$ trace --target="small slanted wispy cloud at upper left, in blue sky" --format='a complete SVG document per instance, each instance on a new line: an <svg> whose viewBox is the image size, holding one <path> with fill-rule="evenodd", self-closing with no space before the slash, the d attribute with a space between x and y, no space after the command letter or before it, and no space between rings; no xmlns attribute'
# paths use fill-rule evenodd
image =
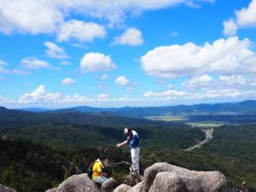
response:
<svg viewBox="0 0 256 192"><path fill-rule="evenodd" d="M57 44L54 44L52 42L44 42L44 45L48 48L46 50L46 54L49 57L55 58L55 59L66 59L68 58L67 53L65 50L61 47L59 47Z"/></svg>

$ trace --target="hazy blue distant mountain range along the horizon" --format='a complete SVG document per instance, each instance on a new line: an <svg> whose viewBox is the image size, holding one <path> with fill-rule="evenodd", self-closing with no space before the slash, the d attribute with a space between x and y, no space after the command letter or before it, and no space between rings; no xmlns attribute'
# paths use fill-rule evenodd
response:
<svg viewBox="0 0 256 192"><path fill-rule="evenodd" d="M243 113L255 114L256 101L247 100L244 102L225 102L215 104L196 104L196 105L177 105L165 107L125 107L125 108L91 108L87 106L79 106L74 108L63 109L44 109L44 108L23 108L21 110L30 112L45 112L53 113L113 113L120 116L130 117L148 117L164 114L183 114L183 113Z"/></svg>

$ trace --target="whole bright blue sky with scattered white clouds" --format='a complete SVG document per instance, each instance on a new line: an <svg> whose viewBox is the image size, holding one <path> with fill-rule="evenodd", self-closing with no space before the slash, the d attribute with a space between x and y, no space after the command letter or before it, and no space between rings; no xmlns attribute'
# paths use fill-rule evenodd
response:
<svg viewBox="0 0 256 192"><path fill-rule="evenodd" d="M256 99L256 0L0 0L0 106Z"/></svg>

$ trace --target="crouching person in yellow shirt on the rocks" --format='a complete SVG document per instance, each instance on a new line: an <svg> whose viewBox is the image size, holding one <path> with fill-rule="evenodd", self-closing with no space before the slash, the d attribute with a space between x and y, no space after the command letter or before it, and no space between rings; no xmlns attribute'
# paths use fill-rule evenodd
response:
<svg viewBox="0 0 256 192"><path fill-rule="evenodd" d="M100 184L108 181L108 177L107 177L108 174L105 172L102 172L103 167L107 165L108 165L107 157L101 157L95 161L92 167L92 176L91 176L92 181Z"/></svg>

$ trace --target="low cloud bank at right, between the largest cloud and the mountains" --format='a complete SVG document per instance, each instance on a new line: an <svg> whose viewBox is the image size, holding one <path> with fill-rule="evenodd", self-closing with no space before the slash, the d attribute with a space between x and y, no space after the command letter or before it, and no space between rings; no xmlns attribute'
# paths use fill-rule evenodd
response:
<svg viewBox="0 0 256 192"><path fill-rule="evenodd" d="M179 90L148 91L143 97L151 101L212 101L214 99L252 99L256 96L256 79L241 75L208 74L183 82Z"/></svg>

